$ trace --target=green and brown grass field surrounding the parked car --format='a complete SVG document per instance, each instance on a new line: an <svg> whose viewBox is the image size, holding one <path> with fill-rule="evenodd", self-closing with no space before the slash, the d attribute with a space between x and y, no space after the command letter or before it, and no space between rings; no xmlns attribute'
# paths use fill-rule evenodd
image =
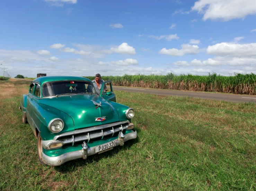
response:
<svg viewBox="0 0 256 191"><path fill-rule="evenodd" d="M40 165L21 123L29 81L0 82L0 190L256 190L256 105L115 91L135 110L138 139Z"/></svg>

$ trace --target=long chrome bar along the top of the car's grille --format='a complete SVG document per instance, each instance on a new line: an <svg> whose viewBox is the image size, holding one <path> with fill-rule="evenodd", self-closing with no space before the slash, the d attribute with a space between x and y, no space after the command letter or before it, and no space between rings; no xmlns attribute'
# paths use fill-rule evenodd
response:
<svg viewBox="0 0 256 191"><path fill-rule="evenodd" d="M109 123L109 124L105 124L105 125L98 125L98 126L94 126L94 127L87 127L87 128L83 128L83 129L77 129L77 130L74 130L74 131L65 132L65 133L61 133L59 135L56 135L53 139L57 140L60 137L64 137L64 136L67 136L67 135L87 133L87 132L90 132L90 131L106 129L106 128L113 127L113 126L116 126L116 125L121 125L121 124L124 124L124 123L130 124L130 121L128 121L128 120L127 121L120 121L120 122Z"/></svg>

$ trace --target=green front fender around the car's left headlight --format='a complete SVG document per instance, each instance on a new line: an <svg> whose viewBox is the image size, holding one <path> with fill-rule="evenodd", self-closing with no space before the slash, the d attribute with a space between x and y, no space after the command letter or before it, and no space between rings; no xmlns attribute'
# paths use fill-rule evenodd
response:
<svg viewBox="0 0 256 191"><path fill-rule="evenodd" d="M36 103L33 112L32 118L39 129L41 131L42 140L50 140L53 139L54 136L63 133L74 131L74 121L67 113L60 111L58 109L52 108L48 105ZM53 133L48 130L48 124L51 120L55 118L60 118L64 122L64 127L61 132Z"/></svg>

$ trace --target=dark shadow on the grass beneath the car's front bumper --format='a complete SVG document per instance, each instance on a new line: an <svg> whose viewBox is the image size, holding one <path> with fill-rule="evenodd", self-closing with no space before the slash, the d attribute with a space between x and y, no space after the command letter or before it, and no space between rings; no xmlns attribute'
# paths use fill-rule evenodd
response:
<svg viewBox="0 0 256 191"><path fill-rule="evenodd" d="M136 131L139 133L141 130L136 129ZM117 147L114 147L110 151L106 151L101 154L91 155L86 160L81 158L81 159L68 161L68 162L65 162L64 164L62 164L61 166L54 167L54 169L56 171L63 172L63 173L73 172L73 171L77 170L76 167L86 166L93 162L99 162L101 159L104 159L104 158L112 158L112 157L118 156L118 154L123 150L132 150L132 149L130 149L132 147L132 145L138 143L139 141L140 141L140 138L139 138L139 136L137 136L136 139L132 139L132 140L124 142L124 146L117 146Z"/></svg>

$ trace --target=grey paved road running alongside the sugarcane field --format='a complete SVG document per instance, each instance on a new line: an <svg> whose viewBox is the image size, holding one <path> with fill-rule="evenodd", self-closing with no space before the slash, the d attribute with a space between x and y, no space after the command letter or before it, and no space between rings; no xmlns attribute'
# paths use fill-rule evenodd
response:
<svg viewBox="0 0 256 191"><path fill-rule="evenodd" d="M163 89L146 89L135 87L120 87L113 86L114 91L127 91L136 93L152 93L160 96L189 96L202 99L214 99L231 102L254 102L256 103L256 96L249 95L236 95L227 93L208 93L208 92L191 92L191 91L178 91L178 90L163 90Z"/></svg>

